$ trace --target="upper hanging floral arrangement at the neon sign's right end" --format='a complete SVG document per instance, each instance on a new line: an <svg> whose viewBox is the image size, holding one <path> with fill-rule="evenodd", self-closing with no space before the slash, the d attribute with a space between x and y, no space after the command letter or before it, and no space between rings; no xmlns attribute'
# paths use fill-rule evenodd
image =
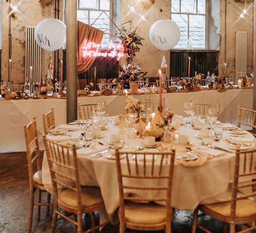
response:
<svg viewBox="0 0 256 233"><path fill-rule="evenodd" d="M116 33L116 36L120 39L120 42L116 43L121 45L121 52L124 54L127 64L133 61L136 52L140 52L139 46L143 46L141 41L144 40L144 38L137 34L136 30L137 28L134 31L127 32L127 30L122 27L120 33Z"/></svg>

